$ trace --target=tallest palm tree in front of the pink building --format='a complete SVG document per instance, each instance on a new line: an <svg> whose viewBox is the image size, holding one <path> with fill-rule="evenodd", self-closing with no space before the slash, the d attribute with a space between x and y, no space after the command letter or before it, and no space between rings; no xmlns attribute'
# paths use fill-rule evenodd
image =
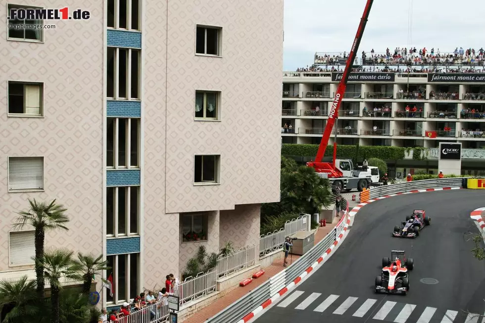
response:
<svg viewBox="0 0 485 323"><path fill-rule="evenodd" d="M30 224L35 229L35 259L40 260L44 256L44 241L46 232L55 229L68 230L64 225L69 222L69 218L64 214L67 209L61 204L56 204L55 199L47 204L29 199L30 209L28 212L17 212L19 215L14 229L21 229L26 224ZM37 276L37 294L40 298L44 297L44 268L42 262L36 261L35 272Z"/></svg>

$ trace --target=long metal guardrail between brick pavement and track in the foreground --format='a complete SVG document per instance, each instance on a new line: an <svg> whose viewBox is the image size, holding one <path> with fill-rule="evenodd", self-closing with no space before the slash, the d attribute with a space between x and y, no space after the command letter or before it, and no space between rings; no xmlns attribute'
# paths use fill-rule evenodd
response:
<svg viewBox="0 0 485 323"><path fill-rule="evenodd" d="M261 305L273 295L281 291L285 286L290 284L303 271L314 264L325 251L337 240L340 233L344 232L343 228L348 219L348 202L344 215L337 226L330 231L323 240L318 242L313 248L303 256L295 260L289 267L272 276L263 284L256 287L251 292L244 295L241 299L226 307L221 312L208 319L206 323L237 323L245 315L249 314L254 308ZM282 237L283 243L285 236Z"/></svg>

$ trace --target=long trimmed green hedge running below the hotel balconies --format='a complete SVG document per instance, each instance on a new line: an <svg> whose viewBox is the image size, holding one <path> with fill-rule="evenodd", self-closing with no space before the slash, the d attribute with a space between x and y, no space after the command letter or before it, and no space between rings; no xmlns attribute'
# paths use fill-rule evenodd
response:
<svg viewBox="0 0 485 323"><path fill-rule="evenodd" d="M404 147L393 146L359 146L357 159L379 158L382 160L404 159ZM283 156L313 157L317 155L318 145L309 144L283 144L281 154ZM329 145L325 151L326 157L332 157L334 147ZM337 145L337 158L355 158L356 146Z"/></svg>

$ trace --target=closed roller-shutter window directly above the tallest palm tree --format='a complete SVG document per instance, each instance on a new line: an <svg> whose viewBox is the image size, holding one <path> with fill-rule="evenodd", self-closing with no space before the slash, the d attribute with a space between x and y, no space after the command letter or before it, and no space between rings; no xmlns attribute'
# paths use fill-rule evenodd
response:
<svg viewBox="0 0 485 323"><path fill-rule="evenodd" d="M44 190L44 157L9 157L8 191Z"/></svg>

